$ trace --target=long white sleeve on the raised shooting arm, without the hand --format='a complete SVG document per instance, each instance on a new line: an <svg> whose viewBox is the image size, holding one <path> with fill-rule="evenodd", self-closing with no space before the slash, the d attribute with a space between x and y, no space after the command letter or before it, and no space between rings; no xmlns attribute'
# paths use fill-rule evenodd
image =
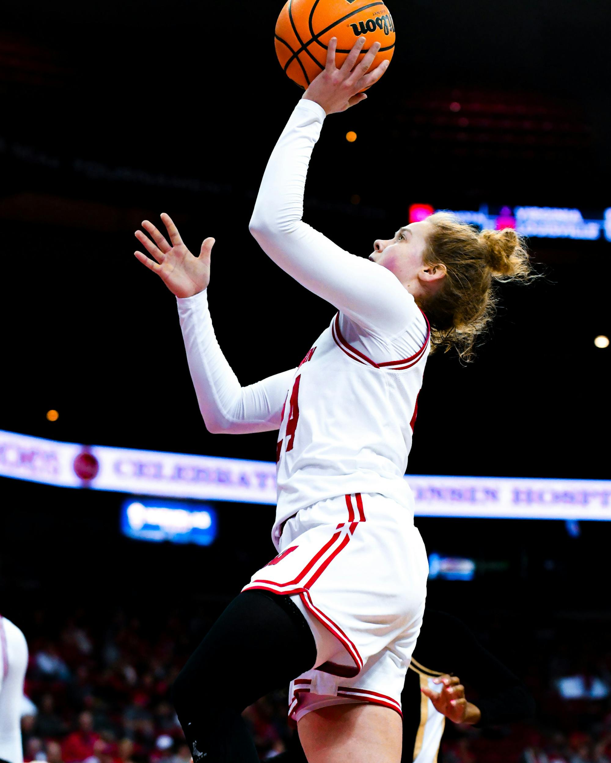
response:
<svg viewBox="0 0 611 763"><path fill-rule="evenodd" d="M251 233L285 272L356 324L361 341L370 336L372 357L386 360L384 345L389 357L402 357L403 350L412 354L422 346L427 326L396 275L346 252L302 221L305 177L324 119L325 110L315 101L296 105L267 163ZM348 341L357 338L348 333Z"/></svg>

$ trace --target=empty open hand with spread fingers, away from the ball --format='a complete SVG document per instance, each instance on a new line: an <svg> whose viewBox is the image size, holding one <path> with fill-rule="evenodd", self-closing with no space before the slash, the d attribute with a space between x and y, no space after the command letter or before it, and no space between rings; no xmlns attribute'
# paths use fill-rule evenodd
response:
<svg viewBox="0 0 611 763"><path fill-rule="evenodd" d="M210 255L215 240L207 238L202 243L199 257L194 257L183 244L170 215L163 212L161 220L166 227L172 246L167 243L154 224L145 220L142 227L154 243L141 230L137 230L135 236L154 260L142 252L134 252L134 255L149 270L157 273L176 297L185 298L199 294L200 291L208 288L210 282Z"/></svg>

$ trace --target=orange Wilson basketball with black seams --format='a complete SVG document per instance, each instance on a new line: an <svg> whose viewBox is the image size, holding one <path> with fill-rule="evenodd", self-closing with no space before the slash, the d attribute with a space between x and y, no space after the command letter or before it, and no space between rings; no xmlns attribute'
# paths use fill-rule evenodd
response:
<svg viewBox="0 0 611 763"><path fill-rule="evenodd" d="M323 69L331 37L341 66L356 40L365 37L364 53L378 41L382 47L371 68L393 57L395 26L383 2L371 0L288 0L276 23L276 55L286 75L307 88Z"/></svg>

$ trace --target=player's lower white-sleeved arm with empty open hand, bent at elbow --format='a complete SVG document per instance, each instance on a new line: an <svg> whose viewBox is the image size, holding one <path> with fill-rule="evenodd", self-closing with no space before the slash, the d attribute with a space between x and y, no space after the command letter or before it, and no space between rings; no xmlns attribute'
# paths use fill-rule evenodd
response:
<svg viewBox="0 0 611 763"><path fill-rule="evenodd" d="M135 255L156 272L176 296L189 371L206 428L212 433L227 434L279 429L280 413L294 369L241 387L218 346L208 309L214 239L206 239L199 257L194 257L170 217L162 214L161 218L172 246L153 224L144 221L142 226L153 240L140 230L136 237L154 259L142 252Z"/></svg>

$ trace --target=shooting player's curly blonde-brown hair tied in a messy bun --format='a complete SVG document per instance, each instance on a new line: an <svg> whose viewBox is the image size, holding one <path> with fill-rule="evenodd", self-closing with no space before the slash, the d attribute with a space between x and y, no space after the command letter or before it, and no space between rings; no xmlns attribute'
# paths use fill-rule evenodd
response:
<svg viewBox="0 0 611 763"><path fill-rule="evenodd" d="M474 356L477 336L496 312L494 282L535 278L524 237L512 228L482 230L448 212L436 212L424 262L445 265L446 275L434 294L421 300L431 323L433 349L455 348L464 361Z"/></svg>

